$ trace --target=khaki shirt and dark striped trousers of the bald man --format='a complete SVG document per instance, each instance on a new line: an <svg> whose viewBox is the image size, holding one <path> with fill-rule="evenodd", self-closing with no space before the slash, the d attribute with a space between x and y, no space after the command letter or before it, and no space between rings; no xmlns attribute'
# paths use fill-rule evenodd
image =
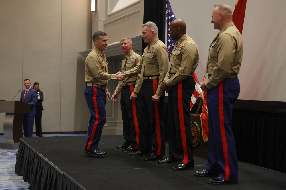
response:
<svg viewBox="0 0 286 190"><path fill-rule="evenodd" d="M175 43L165 77L166 85L172 87L168 93L169 158L190 166L194 166L190 103L196 85L192 73L198 62L198 46L185 34Z"/></svg>

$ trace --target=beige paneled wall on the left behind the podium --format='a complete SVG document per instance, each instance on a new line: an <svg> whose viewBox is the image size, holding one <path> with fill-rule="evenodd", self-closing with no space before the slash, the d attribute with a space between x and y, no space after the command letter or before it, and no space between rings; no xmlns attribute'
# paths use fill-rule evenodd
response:
<svg viewBox="0 0 286 190"><path fill-rule="evenodd" d="M81 119L89 115L77 109L84 76L77 71L83 69L78 52L91 48L90 0L1 0L0 5L0 99L11 101L29 78L44 93L43 132L86 131L88 119ZM0 133L4 116L0 113Z"/></svg>

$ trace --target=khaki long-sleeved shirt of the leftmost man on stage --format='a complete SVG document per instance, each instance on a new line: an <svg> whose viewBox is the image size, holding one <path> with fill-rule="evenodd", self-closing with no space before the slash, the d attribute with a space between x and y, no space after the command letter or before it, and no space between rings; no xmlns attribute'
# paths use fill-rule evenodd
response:
<svg viewBox="0 0 286 190"><path fill-rule="evenodd" d="M86 57L84 72L86 74L85 83L106 86L105 91L108 91L107 80L116 79L116 74L108 74L106 57L104 53L96 47L94 47Z"/></svg>

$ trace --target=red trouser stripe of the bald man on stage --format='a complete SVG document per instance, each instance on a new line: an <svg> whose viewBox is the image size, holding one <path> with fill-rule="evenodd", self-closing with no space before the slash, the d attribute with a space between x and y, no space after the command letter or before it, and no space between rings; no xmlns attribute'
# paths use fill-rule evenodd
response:
<svg viewBox="0 0 286 190"><path fill-rule="evenodd" d="M178 83L178 108L179 108L181 138L182 138L182 145L183 145L183 150L184 150L184 159L182 163L187 164L188 163L188 150L187 150L187 141L186 141L185 122L184 122L182 84L183 84L183 81Z"/></svg>

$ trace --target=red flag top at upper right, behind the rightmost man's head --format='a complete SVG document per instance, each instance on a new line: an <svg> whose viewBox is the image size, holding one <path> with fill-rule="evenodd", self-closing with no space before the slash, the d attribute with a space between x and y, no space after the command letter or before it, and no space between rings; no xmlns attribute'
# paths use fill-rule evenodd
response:
<svg viewBox="0 0 286 190"><path fill-rule="evenodd" d="M235 4L235 9L233 11L233 23L242 34L242 28L244 23L244 15L246 9L246 0L238 0Z"/></svg>

